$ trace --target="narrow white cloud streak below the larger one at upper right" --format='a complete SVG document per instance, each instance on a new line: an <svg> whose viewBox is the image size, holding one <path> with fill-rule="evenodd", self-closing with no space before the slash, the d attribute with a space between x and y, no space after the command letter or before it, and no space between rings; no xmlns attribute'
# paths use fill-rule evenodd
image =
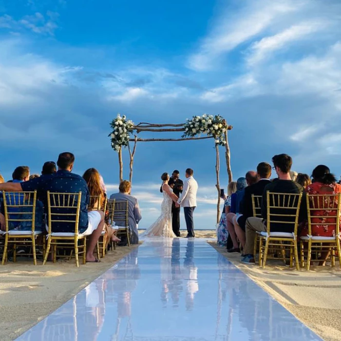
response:
<svg viewBox="0 0 341 341"><path fill-rule="evenodd" d="M311 36L326 26L327 24L322 21L306 21L292 25L274 36L262 38L260 41L256 41L251 45L247 62L249 65L259 63L269 57L273 52L287 47L288 43Z"/></svg>

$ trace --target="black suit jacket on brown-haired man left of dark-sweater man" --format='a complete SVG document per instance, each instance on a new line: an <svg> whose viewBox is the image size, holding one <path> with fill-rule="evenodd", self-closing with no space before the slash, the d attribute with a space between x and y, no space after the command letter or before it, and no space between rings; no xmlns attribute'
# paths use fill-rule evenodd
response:
<svg viewBox="0 0 341 341"><path fill-rule="evenodd" d="M252 194L253 195L263 195L265 186L270 184L270 180L261 179L255 184L251 186L247 186L245 188L244 198L241 203L240 212L243 214L238 218L238 225L245 231L245 223L246 219L249 217L253 217L253 208L252 208Z"/></svg>

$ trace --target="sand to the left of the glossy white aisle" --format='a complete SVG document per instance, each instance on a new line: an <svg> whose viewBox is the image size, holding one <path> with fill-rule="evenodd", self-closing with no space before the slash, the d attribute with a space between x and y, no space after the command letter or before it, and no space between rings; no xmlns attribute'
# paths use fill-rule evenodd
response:
<svg viewBox="0 0 341 341"><path fill-rule="evenodd" d="M28 259L0 265L0 340L16 339L75 296L86 285L127 255L133 247L116 247L100 263L76 267L75 260L56 264Z"/></svg>

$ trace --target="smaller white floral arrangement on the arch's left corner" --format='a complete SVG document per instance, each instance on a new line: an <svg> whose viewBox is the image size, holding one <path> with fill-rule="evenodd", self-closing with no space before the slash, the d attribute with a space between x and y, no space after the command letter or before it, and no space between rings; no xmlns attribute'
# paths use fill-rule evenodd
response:
<svg viewBox="0 0 341 341"><path fill-rule="evenodd" d="M113 132L109 134L111 146L116 152L119 152L122 146L127 147L129 145L130 133L133 133L134 123L127 120L126 116L117 114L110 126L113 129Z"/></svg>

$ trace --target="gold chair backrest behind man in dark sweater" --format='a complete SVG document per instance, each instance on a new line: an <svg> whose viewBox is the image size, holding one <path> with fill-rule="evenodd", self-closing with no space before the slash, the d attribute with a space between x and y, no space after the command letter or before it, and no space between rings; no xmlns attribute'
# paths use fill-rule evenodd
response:
<svg viewBox="0 0 341 341"><path fill-rule="evenodd" d="M271 193L266 191L267 233L271 227L283 227L281 232L294 232L297 235L298 219L303 193Z"/></svg>

